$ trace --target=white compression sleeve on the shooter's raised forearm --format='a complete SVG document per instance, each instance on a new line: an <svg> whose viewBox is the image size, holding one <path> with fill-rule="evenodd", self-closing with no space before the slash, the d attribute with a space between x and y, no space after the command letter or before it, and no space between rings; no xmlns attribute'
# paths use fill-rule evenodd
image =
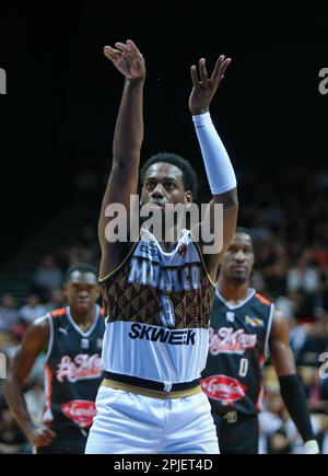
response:
<svg viewBox="0 0 328 476"><path fill-rule="evenodd" d="M192 116L208 181L213 195L224 194L237 186L234 169L213 126L210 113Z"/></svg>

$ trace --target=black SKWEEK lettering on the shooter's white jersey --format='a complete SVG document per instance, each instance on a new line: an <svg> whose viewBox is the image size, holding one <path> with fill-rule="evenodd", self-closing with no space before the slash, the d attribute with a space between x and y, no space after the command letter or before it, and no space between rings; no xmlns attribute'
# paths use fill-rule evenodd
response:
<svg viewBox="0 0 328 476"><path fill-rule="evenodd" d="M195 346L196 330L168 330L163 327L134 323L131 325L129 337L151 343L171 344L172 346Z"/></svg>

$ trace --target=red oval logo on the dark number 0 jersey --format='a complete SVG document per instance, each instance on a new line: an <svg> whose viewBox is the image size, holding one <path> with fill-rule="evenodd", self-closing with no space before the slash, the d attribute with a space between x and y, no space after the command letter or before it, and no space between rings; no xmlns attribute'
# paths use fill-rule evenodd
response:
<svg viewBox="0 0 328 476"><path fill-rule="evenodd" d="M215 400L223 400L226 405L244 398L247 386L243 385L236 379L227 375L212 375L201 380L203 392Z"/></svg>

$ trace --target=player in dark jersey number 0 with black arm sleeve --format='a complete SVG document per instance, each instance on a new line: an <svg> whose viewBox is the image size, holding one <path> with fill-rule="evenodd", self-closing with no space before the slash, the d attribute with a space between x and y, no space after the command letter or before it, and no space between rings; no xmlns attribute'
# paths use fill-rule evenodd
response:
<svg viewBox="0 0 328 476"><path fill-rule="evenodd" d="M304 440L304 452L317 453L305 392L289 344L288 321L249 287L254 260L251 236L237 228L220 266L201 381L212 406L220 451L258 453L262 367L270 352L281 396Z"/></svg>

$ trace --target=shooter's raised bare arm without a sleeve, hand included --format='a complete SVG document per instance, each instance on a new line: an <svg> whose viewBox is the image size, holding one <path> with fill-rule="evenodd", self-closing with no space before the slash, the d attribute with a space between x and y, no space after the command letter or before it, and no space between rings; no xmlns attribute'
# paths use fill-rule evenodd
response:
<svg viewBox="0 0 328 476"><path fill-rule="evenodd" d="M115 46L116 48L106 46L104 53L124 74L126 81L114 132L112 171L98 222L102 247L101 277L107 276L119 265L128 248L127 243L110 243L108 240L107 225L116 216L110 216L108 210L106 213L106 209L108 205L121 204L129 223L130 195L136 195L138 189L138 170L143 140L144 60L131 40L116 43Z"/></svg>

